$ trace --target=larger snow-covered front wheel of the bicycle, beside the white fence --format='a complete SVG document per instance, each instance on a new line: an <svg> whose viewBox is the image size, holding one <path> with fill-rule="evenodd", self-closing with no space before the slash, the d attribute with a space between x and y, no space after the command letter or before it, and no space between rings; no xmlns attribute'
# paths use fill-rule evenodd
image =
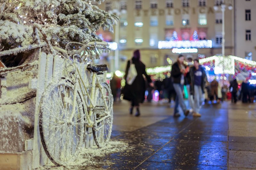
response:
<svg viewBox="0 0 256 170"><path fill-rule="evenodd" d="M66 166L77 158L84 128L84 104L79 91L65 79L50 84L41 99L39 131L44 151L55 165Z"/></svg>

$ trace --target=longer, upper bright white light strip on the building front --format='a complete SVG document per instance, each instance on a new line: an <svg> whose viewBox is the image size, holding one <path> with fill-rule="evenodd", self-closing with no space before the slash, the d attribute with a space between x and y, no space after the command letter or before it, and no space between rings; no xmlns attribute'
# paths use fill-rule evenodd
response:
<svg viewBox="0 0 256 170"><path fill-rule="evenodd" d="M158 48L212 48L212 41L158 41Z"/></svg>

